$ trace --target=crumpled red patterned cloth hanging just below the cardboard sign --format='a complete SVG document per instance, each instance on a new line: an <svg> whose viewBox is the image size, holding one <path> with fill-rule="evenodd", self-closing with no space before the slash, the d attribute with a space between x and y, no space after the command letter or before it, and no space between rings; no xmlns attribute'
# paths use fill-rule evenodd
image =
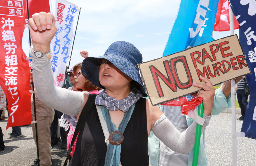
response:
<svg viewBox="0 0 256 166"><path fill-rule="evenodd" d="M197 98L197 95L190 94L175 100L168 101L161 105L176 106L176 107L181 106L181 113L187 115L189 111L194 111L194 109L199 104L201 104L202 101L203 101L203 98Z"/></svg>

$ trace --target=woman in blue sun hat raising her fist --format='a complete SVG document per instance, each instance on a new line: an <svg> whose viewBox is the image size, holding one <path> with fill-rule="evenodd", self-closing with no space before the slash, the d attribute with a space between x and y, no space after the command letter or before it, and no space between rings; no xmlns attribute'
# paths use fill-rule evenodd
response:
<svg viewBox="0 0 256 166"><path fill-rule="evenodd" d="M50 42L57 30L54 16L36 13L29 19L29 26L38 97L54 109L79 116L91 96L55 87L53 78L48 78L52 74ZM89 113L82 119L85 124L79 132L69 165L148 166L147 138L151 130L176 152L188 153L194 146L195 122L180 133L158 106L152 106L143 98L147 93L140 78L139 63L142 63L141 53L125 41L114 42L101 57L84 59L82 73L104 90L96 96ZM209 80L201 79L206 84L193 85L205 90L198 93L204 100L203 131L211 118L215 90ZM106 130L110 133L107 137L104 136ZM109 138L109 144L106 138Z"/></svg>

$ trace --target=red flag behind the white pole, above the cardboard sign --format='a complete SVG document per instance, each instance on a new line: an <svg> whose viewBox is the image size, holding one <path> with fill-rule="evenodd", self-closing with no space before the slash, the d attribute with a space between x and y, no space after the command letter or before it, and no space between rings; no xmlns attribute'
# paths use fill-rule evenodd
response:
<svg viewBox="0 0 256 166"><path fill-rule="evenodd" d="M218 10L214 23L214 31L229 31L229 3L228 0L219 0ZM239 23L234 16L234 29L239 28Z"/></svg>

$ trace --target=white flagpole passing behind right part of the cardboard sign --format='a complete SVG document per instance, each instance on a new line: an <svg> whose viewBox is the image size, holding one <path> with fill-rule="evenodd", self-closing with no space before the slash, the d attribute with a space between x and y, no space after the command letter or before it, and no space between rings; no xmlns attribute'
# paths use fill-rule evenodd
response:
<svg viewBox="0 0 256 166"><path fill-rule="evenodd" d="M233 11L229 5L229 22L230 35L234 34L234 18ZM231 80L231 100L232 100L232 133L236 133L236 96L235 96L235 80ZM237 141L236 137L232 137L232 160L233 166L237 166Z"/></svg>

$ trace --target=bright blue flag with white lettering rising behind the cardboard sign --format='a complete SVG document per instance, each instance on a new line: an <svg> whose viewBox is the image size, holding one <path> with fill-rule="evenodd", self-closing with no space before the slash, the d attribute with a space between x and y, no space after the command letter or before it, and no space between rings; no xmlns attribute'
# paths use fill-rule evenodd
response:
<svg viewBox="0 0 256 166"><path fill-rule="evenodd" d="M213 41L216 0L181 0L163 56Z"/></svg>

